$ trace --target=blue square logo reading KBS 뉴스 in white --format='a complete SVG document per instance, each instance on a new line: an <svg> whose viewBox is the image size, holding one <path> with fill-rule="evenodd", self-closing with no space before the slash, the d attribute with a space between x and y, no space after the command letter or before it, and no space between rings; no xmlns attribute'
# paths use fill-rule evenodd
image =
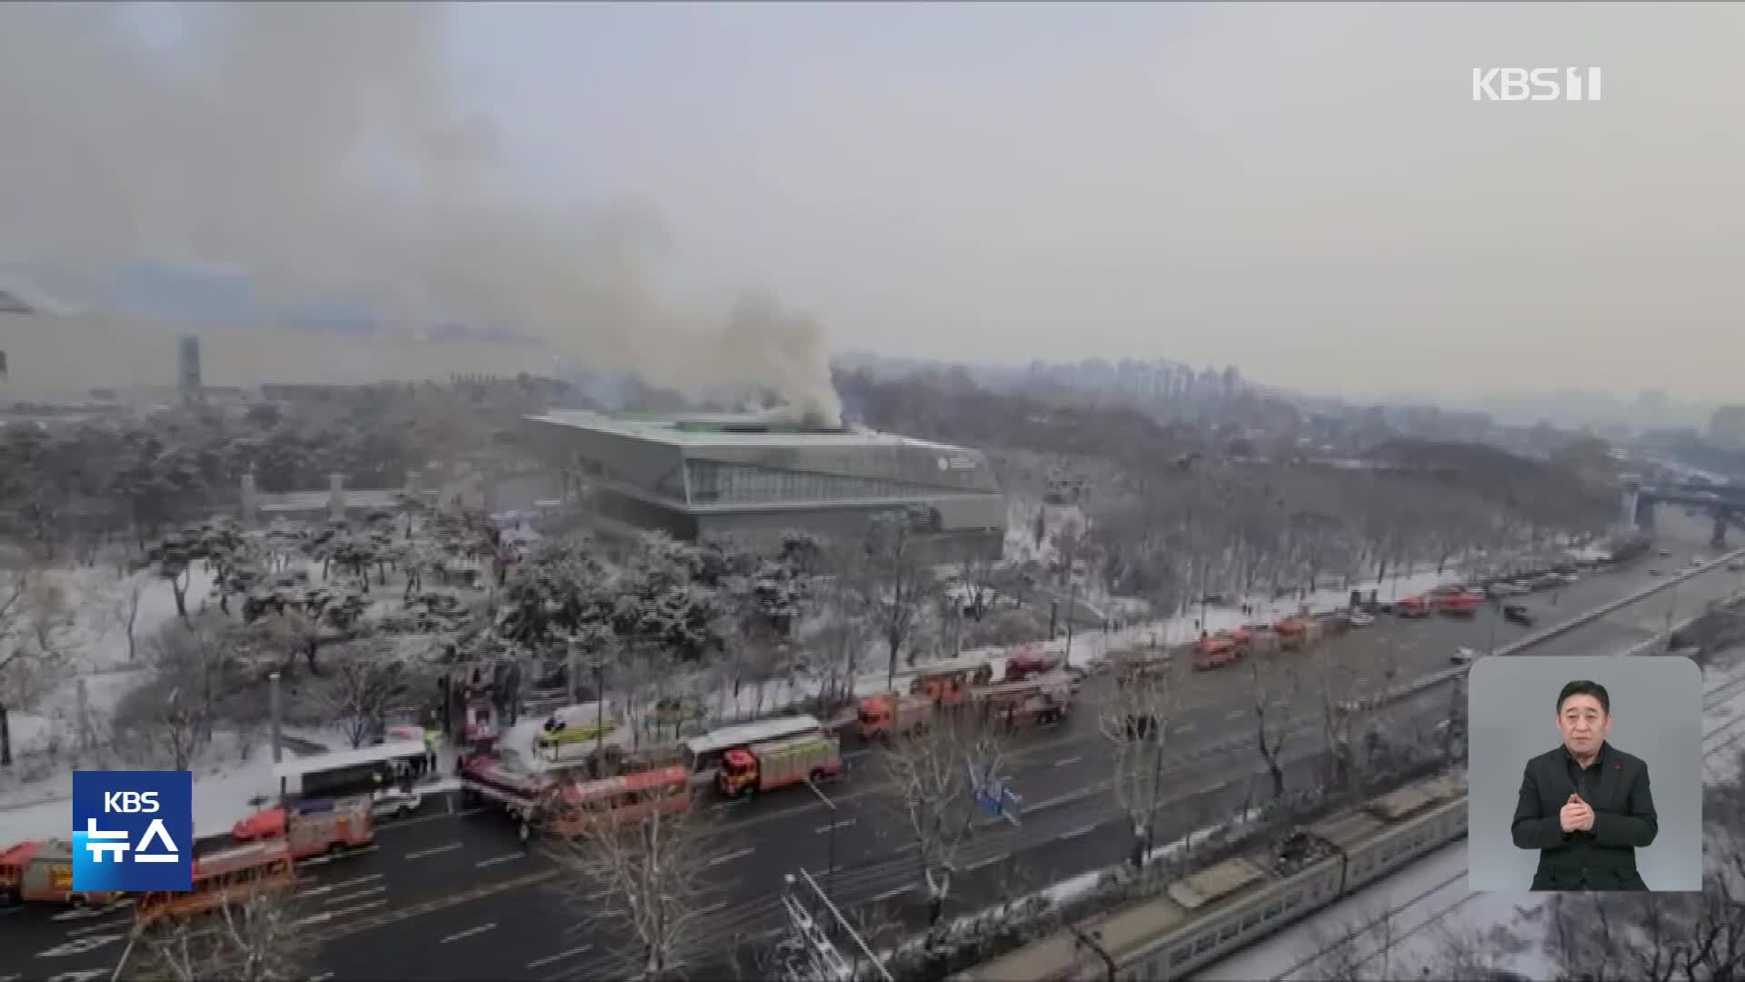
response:
<svg viewBox="0 0 1745 982"><path fill-rule="evenodd" d="M194 889L194 774L73 771L73 889Z"/></svg>

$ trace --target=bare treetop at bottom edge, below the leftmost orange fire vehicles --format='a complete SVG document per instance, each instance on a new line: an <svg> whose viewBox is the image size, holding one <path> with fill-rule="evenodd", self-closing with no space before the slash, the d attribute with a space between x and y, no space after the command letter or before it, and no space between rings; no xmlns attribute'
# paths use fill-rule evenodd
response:
<svg viewBox="0 0 1745 982"><path fill-rule="evenodd" d="M147 982L293 982L309 977L314 944L288 891L263 889L208 917L166 917L138 940L131 979Z"/></svg>

